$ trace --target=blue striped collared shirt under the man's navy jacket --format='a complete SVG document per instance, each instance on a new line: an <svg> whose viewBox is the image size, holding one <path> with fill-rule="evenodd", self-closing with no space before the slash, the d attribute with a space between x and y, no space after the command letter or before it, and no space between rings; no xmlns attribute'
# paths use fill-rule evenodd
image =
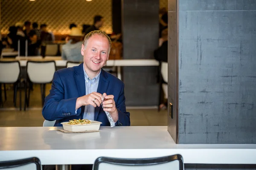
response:
<svg viewBox="0 0 256 170"><path fill-rule="evenodd" d="M84 68L84 66L83 66L83 68ZM84 70L85 91L86 91L85 95L93 93L93 92L97 92L98 85L99 85L100 73L101 73L101 70L99 71L99 74L96 77L94 77L93 79L90 79ZM94 120L95 108L92 105L87 105L84 107L85 108L84 108L83 119Z"/></svg>

